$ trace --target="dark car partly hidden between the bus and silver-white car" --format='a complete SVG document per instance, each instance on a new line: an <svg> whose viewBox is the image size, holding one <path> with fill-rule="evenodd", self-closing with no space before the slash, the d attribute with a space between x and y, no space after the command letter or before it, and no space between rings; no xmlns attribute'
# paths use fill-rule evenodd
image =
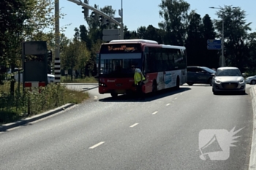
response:
<svg viewBox="0 0 256 170"><path fill-rule="evenodd" d="M208 84L211 85L212 74L215 71L206 66L187 66L187 84Z"/></svg>

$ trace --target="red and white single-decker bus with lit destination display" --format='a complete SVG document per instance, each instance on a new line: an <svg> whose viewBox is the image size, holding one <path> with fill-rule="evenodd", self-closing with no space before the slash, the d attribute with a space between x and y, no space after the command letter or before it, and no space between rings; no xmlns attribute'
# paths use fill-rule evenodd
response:
<svg viewBox="0 0 256 170"><path fill-rule="evenodd" d="M187 82L186 47L159 45L146 39L113 40L99 51L99 93L135 92L134 72L139 68L145 78L144 93L179 88Z"/></svg>

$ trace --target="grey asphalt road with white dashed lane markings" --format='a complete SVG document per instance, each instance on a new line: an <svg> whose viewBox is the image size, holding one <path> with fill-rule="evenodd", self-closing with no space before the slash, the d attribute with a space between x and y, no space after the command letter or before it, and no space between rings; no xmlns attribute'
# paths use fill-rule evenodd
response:
<svg viewBox="0 0 256 170"><path fill-rule="evenodd" d="M208 85L184 85L146 101L89 93L99 100L1 133L0 169L248 169L249 89L214 96ZM230 147L234 127L243 129Z"/></svg>

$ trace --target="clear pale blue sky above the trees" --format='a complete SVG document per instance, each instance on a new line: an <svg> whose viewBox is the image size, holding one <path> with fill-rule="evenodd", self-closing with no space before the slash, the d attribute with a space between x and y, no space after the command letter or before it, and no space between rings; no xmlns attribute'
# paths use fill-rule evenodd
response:
<svg viewBox="0 0 256 170"><path fill-rule="evenodd" d="M83 1L83 0L82 0ZM208 14L211 20L217 18L216 12L219 9L211 9L209 7L225 7L232 5L232 7L241 7L246 12L246 22L252 23L252 31L256 31L256 0L184 0L190 4L189 12L195 10L201 18ZM123 7L124 26L127 26L129 31L137 31L140 26L149 25L158 27L158 23L163 20L159 16L159 4L161 0L89 0L89 5L94 7L97 4L99 8L105 6L112 6L116 10L116 18L118 16L118 9L121 9L121 2ZM60 20L60 26L67 26L64 34L67 38L72 39L75 34L74 29L79 28L80 25L87 27L86 20L83 18L82 6L68 1L59 0L59 7L61 12L65 14L64 19ZM90 10L91 13L91 10ZM69 25L69 26L68 26Z"/></svg>

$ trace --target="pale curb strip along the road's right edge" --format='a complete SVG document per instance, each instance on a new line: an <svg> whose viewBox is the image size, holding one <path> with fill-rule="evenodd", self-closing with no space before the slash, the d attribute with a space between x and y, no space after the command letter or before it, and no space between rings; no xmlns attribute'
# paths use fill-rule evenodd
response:
<svg viewBox="0 0 256 170"><path fill-rule="evenodd" d="M256 170L256 86L250 89L253 109L252 147L249 158L249 170Z"/></svg>

